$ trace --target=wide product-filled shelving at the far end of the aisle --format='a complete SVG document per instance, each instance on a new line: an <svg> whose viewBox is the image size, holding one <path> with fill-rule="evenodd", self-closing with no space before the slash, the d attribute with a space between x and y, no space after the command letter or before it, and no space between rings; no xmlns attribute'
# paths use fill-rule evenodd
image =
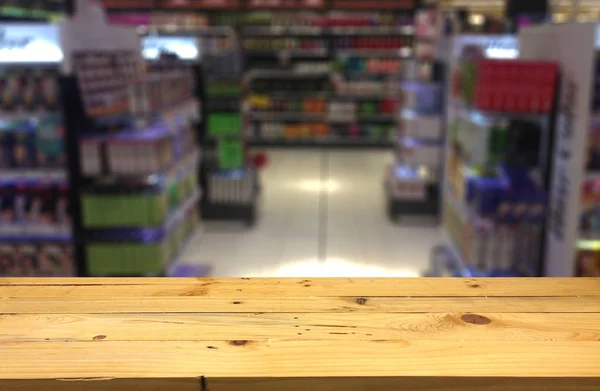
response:
<svg viewBox="0 0 600 391"><path fill-rule="evenodd" d="M413 55L407 3L349 11L248 12L240 26L252 146L390 147L398 82ZM337 8L340 7L340 8Z"/></svg>

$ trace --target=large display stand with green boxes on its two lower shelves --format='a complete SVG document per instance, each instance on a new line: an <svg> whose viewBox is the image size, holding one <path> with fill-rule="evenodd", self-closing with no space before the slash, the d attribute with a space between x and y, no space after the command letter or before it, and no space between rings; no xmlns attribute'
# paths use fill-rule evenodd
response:
<svg viewBox="0 0 600 391"><path fill-rule="evenodd" d="M78 6L61 84L80 274L164 275L198 224L192 70L159 61L144 72L135 30Z"/></svg>

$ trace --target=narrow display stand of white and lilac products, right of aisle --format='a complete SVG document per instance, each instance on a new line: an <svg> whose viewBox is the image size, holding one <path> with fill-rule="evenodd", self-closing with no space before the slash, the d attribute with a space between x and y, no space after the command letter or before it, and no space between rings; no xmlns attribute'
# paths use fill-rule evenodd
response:
<svg viewBox="0 0 600 391"><path fill-rule="evenodd" d="M398 216L438 216L444 151L445 63L436 53L442 16L416 13L415 55L403 83L396 161L387 167L387 212Z"/></svg>

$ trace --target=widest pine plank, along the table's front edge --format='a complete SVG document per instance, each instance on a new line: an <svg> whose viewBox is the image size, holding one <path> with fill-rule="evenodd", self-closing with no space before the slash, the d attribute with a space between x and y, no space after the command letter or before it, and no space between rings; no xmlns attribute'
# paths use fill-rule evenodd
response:
<svg viewBox="0 0 600 391"><path fill-rule="evenodd" d="M597 377L600 342L1 342L0 379Z"/></svg>

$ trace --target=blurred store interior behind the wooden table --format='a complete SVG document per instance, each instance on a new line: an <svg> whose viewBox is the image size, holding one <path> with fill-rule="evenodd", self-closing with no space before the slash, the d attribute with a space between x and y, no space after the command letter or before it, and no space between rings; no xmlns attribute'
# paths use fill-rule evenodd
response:
<svg viewBox="0 0 600 391"><path fill-rule="evenodd" d="M600 276L598 21L0 0L0 276Z"/></svg>

